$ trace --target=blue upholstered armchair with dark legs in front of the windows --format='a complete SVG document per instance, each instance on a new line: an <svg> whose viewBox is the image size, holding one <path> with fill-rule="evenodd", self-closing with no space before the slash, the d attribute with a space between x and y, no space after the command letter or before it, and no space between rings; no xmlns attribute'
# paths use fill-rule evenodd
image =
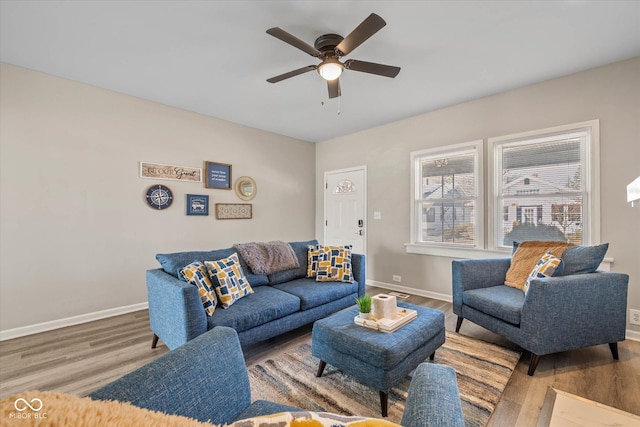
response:
<svg viewBox="0 0 640 427"><path fill-rule="evenodd" d="M546 354L624 341L629 276L596 271L532 279L525 295L504 285L511 258L452 262L456 332L468 319L531 352L529 375Z"/></svg>

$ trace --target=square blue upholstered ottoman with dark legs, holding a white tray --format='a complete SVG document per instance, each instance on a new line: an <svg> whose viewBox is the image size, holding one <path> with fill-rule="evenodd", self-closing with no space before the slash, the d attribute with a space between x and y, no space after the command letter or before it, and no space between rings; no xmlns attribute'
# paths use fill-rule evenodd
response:
<svg viewBox="0 0 640 427"><path fill-rule="evenodd" d="M380 390L382 416L387 416L389 391L444 344L444 313L398 303L418 312L400 329L385 333L356 325L358 308L338 312L313 324L312 353L320 359L317 377L327 363L358 381Z"/></svg>

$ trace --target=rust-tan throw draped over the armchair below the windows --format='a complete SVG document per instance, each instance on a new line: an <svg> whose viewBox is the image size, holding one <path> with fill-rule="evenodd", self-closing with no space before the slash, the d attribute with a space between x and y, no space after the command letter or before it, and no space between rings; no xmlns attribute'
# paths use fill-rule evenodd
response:
<svg viewBox="0 0 640 427"><path fill-rule="evenodd" d="M561 258L569 246L573 246L573 244L566 242L543 242L538 240L520 243L518 249L511 257L511 266L507 271L504 284L512 288L524 290L527 277L531 274L536 263L540 261L542 255L551 252L558 258Z"/></svg>

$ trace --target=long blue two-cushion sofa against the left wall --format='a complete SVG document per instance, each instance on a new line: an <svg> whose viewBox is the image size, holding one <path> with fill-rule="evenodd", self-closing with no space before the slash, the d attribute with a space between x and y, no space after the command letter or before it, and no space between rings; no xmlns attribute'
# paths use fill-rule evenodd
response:
<svg viewBox="0 0 640 427"><path fill-rule="evenodd" d="M238 333L242 345L255 343L291 331L352 306L365 293L365 257L352 254L354 283L317 283L307 278L307 250L317 240L291 242L299 268L270 275L252 274L238 253L240 265L254 293L236 301L231 307L218 307L212 316L205 314L198 289L178 278L178 270L194 261L226 258L233 248L213 251L158 254L162 268L147 270L149 320L154 333L152 347L158 339L173 350L213 329L229 326Z"/></svg>

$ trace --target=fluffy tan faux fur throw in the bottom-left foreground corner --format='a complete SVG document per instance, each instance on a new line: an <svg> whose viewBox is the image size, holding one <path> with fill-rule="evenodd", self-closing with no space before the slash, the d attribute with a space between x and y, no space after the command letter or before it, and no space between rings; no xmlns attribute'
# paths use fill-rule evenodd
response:
<svg viewBox="0 0 640 427"><path fill-rule="evenodd" d="M26 391L0 400L2 425L211 427L192 418L51 391Z"/></svg>

